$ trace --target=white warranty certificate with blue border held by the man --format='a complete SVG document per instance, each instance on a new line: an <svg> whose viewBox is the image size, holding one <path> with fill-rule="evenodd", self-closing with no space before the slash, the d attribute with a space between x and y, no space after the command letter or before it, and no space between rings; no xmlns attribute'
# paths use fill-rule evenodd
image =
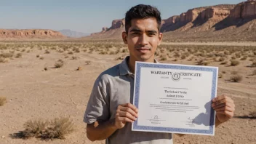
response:
<svg viewBox="0 0 256 144"><path fill-rule="evenodd" d="M136 62L132 131L215 135L218 68Z"/></svg>

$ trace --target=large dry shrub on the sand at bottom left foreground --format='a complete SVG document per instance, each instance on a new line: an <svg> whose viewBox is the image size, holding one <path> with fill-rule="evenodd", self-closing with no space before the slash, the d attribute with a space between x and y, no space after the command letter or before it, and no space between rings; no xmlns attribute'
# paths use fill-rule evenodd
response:
<svg viewBox="0 0 256 144"><path fill-rule="evenodd" d="M49 139L65 139L65 135L74 131L73 121L69 118L56 118L52 121L41 119L25 122L24 131L10 135L13 138L28 139L30 137Z"/></svg>

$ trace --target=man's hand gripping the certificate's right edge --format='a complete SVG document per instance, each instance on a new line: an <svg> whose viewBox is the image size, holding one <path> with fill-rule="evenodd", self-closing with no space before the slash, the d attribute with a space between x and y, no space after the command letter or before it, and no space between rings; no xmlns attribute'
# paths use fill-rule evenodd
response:
<svg viewBox="0 0 256 144"><path fill-rule="evenodd" d="M212 108L216 111L217 120L220 121L220 123L223 123L233 117L235 104L231 97L222 95L212 99Z"/></svg>

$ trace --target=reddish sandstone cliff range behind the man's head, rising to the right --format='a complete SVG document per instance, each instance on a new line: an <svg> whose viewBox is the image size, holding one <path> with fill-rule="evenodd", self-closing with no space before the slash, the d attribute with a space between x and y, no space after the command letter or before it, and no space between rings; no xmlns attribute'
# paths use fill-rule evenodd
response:
<svg viewBox="0 0 256 144"><path fill-rule="evenodd" d="M184 36L193 39L203 39L204 36L208 36L207 41L212 36L216 39L220 37L229 39L228 41L232 39L256 40L256 35L253 34L256 33L255 17L256 0L248 0L239 4L198 7L162 20L161 32L169 38L175 34L181 39ZM110 28L103 28L103 31L92 34L90 38L120 39L122 31L124 31L124 19L113 20Z"/></svg>

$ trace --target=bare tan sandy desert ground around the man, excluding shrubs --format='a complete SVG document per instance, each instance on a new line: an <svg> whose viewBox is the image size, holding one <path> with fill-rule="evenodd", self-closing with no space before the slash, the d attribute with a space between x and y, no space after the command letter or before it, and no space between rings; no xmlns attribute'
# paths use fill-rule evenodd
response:
<svg viewBox="0 0 256 144"><path fill-rule="evenodd" d="M43 55L39 60L36 55ZM34 49L24 52L23 57L13 58L9 63L0 63L0 95L7 97L7 103L0 107L0 143L92 143L86 137L86 125L83 123L84 110L97 76L107 68L116 65L121 60L114 60L117 55L97 55L85 52L74 53L78 60L64 58L63 53ZM118 54L121 55L121 54ZM53 67L57 59L63 59L63 68ZM86 65L85 60L92 61ZM162 61L161 63L192 64L191 61ZM226 67L219 63L223 78L218 80L217 95L228 95L236 104L235 116L248 115L256 110L256 76L250 76L255 68L246 67L249 60L242 61L239 66ZM44 71L48 66L48 71ZM75 71L78 66L83 69ZM240 83L227 81L231 71L239 71L244 76ZM60 116L70 116L76 125L76 131L65 140L28 140L13 139L9 134L23 130L23 124L30 119L54 119ZM221 124L215 131L215 136L185 135L174 137L177 143L256 143L256 119L241 119L234 117ZM105 143L104 141L94 143ZM121 143L121 142L120 142Z"/></svg>

